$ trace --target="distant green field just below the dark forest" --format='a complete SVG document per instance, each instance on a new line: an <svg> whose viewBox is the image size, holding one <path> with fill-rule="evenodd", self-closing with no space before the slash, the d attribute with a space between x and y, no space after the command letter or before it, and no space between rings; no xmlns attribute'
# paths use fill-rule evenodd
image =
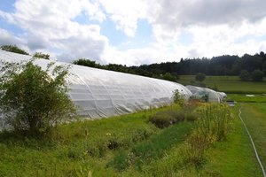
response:
<svg viewBox="0 0 266 177"><path fill-rule="evenodd" d="M195 81L194 75L182 75L177 81L184 85L190 85L191 81ZM217 87L219 91L234 94L265 94L266 93L266 79L262 82L254 81L240 81L239 76L207 76L203 81L207 87Z"/></svg>

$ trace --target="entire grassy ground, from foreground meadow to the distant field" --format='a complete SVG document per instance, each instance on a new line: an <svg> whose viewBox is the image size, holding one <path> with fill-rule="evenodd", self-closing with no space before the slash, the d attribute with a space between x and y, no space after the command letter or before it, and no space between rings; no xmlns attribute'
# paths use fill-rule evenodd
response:
<svg viewBox="0 0 266 177"><path fill-rule="evenodd" d="M182 77L180 81L193 79ZM240 108L266 168L266 96L263 95L266 84L259 83L257 88L254 82L238 80L212 76L205 81L208 86L216 84L221 91L254 90L255 94L228 94L228 99L237 102L230 108L231 128L221 140L209 136L207 146L205 142L197 146L202 144L195 134L200 123L188 113L178 112L179 106L172 105L61 125L50 138L43 140L1 133L0 176L262 176L238 114ZM243 85L240 87L238 83ZM182 118L175 120L175 124L158 127L150 121L154 115L171 121L169 115ZM210 115L219 115L212 118L219 119L223 113ZM195 150L199 153L192 153Z"/></svg>

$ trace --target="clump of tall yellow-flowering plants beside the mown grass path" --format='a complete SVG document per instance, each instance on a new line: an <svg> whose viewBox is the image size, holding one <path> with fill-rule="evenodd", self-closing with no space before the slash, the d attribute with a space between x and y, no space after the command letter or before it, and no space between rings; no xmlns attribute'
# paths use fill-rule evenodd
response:
<svg viewBox="0 0 266 177"><path fill-rule="evenodd" d="M198 112L199 119L195 122L184 149L186 160L196 166L201 165L205 151L211 143L226 138L232 122L230 108L225 104L208 104Z"/></svg>

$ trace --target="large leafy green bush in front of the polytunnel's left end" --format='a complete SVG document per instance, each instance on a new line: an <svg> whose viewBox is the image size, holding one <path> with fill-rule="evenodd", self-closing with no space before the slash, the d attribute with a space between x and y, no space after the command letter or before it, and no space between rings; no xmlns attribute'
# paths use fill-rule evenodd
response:
<svg viewBox="0 0 266 177"><path fill-rule="evenodd" d="M68 67L50 63L43 71L33 60L1 65L0 112L7 127L39 136L73 118L75 107L66 94Z"/></svg>

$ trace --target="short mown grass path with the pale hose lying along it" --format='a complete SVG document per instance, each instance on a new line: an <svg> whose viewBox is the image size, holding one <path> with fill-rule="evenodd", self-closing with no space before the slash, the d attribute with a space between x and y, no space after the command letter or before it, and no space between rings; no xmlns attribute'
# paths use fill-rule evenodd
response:
<svg viewBox="0 0 266 177"><path fill-rule="evenodd" d="M249 116L252 115L252 112L250 112L252 107L247 104L241 105L241 115L248 125L251 135L256 136L256 134L260 134L260 130L254 134L254 129L256 129L260 121L254 121ZM215 143L213 149L208 151L209 161L202 170L203 176L262 176L262 171L255 158L251 142L249 141L246 130L238 117L239 105L233 108L232 111L235 117L232 133L226 141ZM251 121L255 123L251 124ZM266 125L266 122L263 122L263 124ZM263 128L266 131L266 128ZM254 138L255 144L263 139L262 136ZM266 143L266 141L263 140L261 140L261 142L263 142L263 144ZM264 158L262 158L262 163L265 160L265 147L266 146L263 146L262 144L257 145L258 151L263 151L260 154L262 157L264 156Z"/></svg>

